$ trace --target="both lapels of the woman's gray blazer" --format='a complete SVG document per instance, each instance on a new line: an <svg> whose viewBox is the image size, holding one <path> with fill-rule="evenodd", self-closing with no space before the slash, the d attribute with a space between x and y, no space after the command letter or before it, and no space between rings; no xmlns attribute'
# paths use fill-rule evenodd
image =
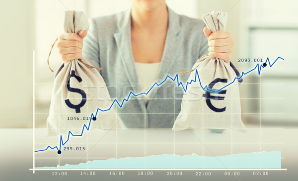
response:
<svg viewBox="0 0 298 181"><path fill-rule="evenodd" d="M165 39L164 50L161 58L160 68L157 74L156 82L162 82L167 76L175 63L177 52L181 46L183 37L179 36L180 23L179 16L169 7L168 9L168 30ZM138 94L140 92L140 83L138 82L137 72L134 65L134 56L132 53L131 45L131 9L127 10L118 22L120 31L114 33L114 38L118 46L121 61L124 66L124 70L128 76L130 84L133 89L133 93ZM159 87L155 88L156 90ZM155 90L155 92L156 92ZM142 96L137 96L142 110L145 108L144 99Z"/></svg>

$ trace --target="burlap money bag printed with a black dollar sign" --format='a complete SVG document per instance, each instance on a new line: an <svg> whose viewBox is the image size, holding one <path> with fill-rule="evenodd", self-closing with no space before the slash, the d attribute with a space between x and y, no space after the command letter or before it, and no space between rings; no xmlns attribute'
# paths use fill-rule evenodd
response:
<svg viewBox="0 0 298 181"><path fill-rule="evenodd" d="M65 32L78 34L88 27L88 19L83 12L65 12ZM117 117L114 109L110 108L111 105L106 84L98 71L84 58L71 60L56 73L47 118L47 135L69 131L80 133L87 128L118 128ZM93 120L95 118L91 117L91 113L96 115L96 120Z"/></svg>

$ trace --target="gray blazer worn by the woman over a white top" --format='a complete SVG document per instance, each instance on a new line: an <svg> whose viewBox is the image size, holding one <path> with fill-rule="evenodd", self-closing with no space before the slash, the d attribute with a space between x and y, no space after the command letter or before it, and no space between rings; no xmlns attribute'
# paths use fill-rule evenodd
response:
<svg viewBox="0 0 298 181"><path fill-rule="evenodd" d="M168 8L168 30L157 83L164 81L167 75L174 78L179 72L189 71L199 57L208 53L204 26L202 20L176 14ZM110 96L120 104L131 91L141 93L131 47L131 9L91 19L84 38L83 57L93 66L102 68L100 74ZM178 76L183 84L188 77ZM177 87L177 80L167 79L151 91L152 99L147 106L143 95L130 95L121 108L114 104L126 127L172 128L180 112L183 89Z"/></svg>

